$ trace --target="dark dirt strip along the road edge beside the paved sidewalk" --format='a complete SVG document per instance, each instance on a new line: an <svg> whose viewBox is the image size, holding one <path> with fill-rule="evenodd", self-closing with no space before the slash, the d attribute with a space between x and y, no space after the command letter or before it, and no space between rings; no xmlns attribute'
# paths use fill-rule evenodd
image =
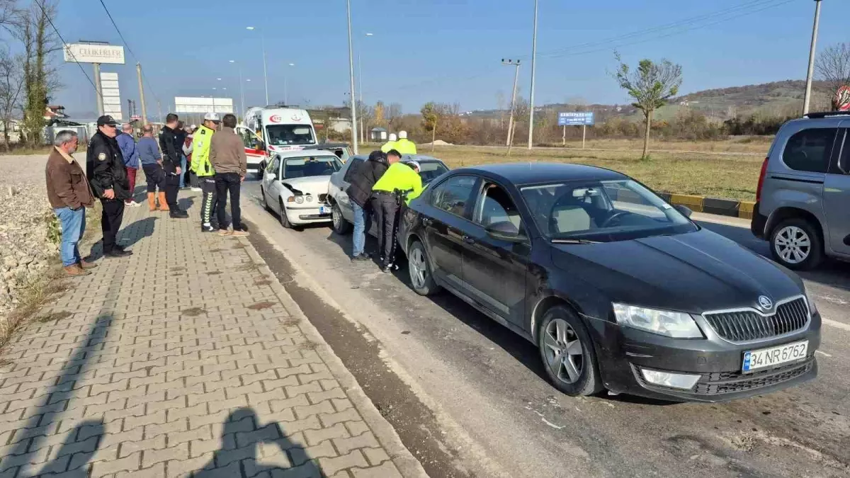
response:
<svg viewBox="0 0 850 478"><path fill-rule="evenodd" d="M253 229L254 225L249 227ZM248 241L265 259L269 269L319 330L331 350L354 375L378 411L393 425L402 443L419 460L428 475L435 478L476 476L463 469L457 452L440 440L443 430L437 419L413 390L388 369L379 356L378 344L367 340L357 326L349 322L339 310L326 304L316 293L292 281L292 265L265 237L252 234L248 236Z"/></svg>

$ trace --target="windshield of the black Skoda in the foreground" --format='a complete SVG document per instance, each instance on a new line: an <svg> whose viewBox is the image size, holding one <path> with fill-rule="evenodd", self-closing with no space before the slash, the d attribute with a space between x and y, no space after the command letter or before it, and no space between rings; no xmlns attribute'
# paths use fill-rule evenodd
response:
<svg viewBox="0 0 850 478"><path fill-rule="evenodd" d="M563 181L520 191L537 226L552 240L614 242L697 229L632 179Z"/></svg>

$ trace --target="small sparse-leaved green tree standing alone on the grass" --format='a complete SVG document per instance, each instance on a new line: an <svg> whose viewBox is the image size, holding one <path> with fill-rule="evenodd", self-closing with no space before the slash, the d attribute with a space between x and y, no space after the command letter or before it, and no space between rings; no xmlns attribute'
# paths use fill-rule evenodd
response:
<svg viewBox="0 0 850 478"><path fill-rule="evenodd" d="M649 130L652 128L652 112L666 105L667 100L679 92L682 85L682 65L673 64L670 60L654 63L652 60L640 60L638 69L632 71L629 65L623 63L620 54L614 54L620 64L614 75L620 88L634 98L632 105L643 111L646 120L646 130L643 135L642 159L649 157Z"/></svg>

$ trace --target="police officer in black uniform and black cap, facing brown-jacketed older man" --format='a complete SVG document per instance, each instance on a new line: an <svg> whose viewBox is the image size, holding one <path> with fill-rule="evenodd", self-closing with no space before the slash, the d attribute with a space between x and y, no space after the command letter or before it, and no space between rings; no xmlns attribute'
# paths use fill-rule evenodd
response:
<svg viewBox="0 0 850 478"><path fill-rule="evenodd" d="M103 205L100 221L103 230L104 255L124 257L132 254L116 244L118 230L124 218L124 202L133 197L130 180L124 167L124 157L115 137L118 123L111 116L98 118L98 132L88 142L86 175L94 196Z"/></svg>

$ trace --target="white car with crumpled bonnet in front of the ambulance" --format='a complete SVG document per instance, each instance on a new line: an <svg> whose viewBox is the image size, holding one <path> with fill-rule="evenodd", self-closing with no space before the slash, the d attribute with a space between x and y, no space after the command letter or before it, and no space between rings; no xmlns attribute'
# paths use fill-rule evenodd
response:
<svg viewBox="0 0 850 478"><path fill-rule="evenodd" d="M331 221L327 186L343 163L331 151L284 151L265 168L260 196L286 228Z"/></svg>

